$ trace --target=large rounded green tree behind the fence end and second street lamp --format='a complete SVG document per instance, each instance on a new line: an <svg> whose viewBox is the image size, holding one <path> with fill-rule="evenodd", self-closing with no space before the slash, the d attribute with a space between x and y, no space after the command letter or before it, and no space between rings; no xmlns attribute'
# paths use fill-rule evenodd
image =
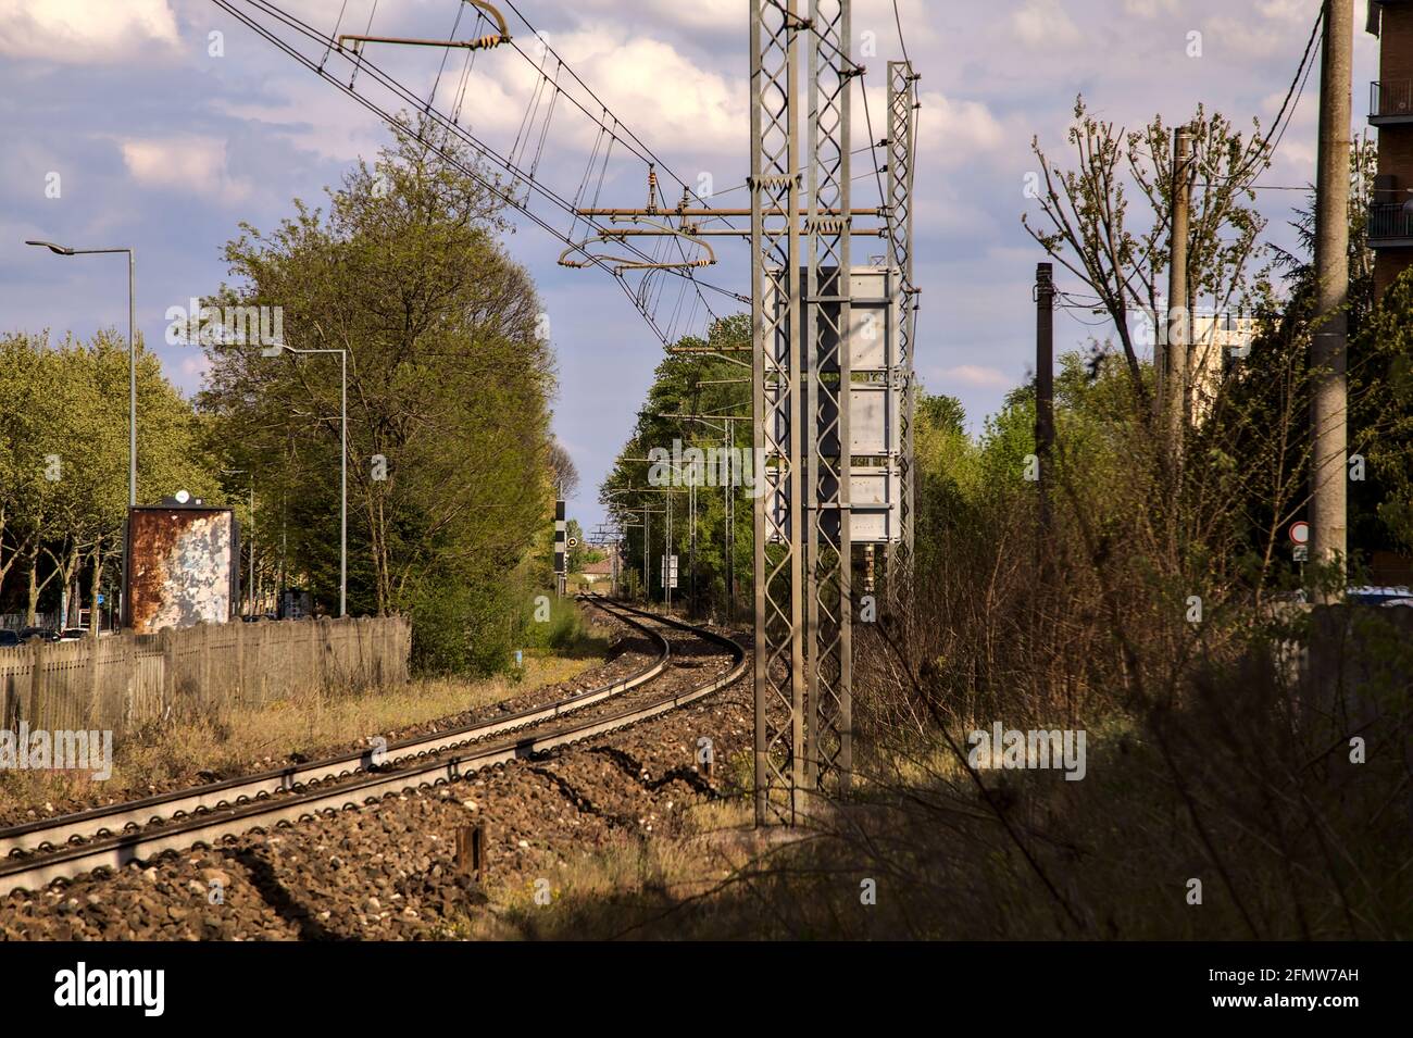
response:
<svg viewBox="0 0 1413 1038"><path fill-rule="evenodd" d="M226 247L240 284L216 297L280 306L294 349L348 352L349 607L410 612L414 647L441 647L441 669L480 667L473 640L509 651L507 578L527 576L552 514L554 363L534 287L499 241L500 206L400 136L329 192L328 213L297 201L270 234L243 225ZM331 602L339 357L260 346L206 342L201 405L229 467L264 486L261 528Z"/></svg>

